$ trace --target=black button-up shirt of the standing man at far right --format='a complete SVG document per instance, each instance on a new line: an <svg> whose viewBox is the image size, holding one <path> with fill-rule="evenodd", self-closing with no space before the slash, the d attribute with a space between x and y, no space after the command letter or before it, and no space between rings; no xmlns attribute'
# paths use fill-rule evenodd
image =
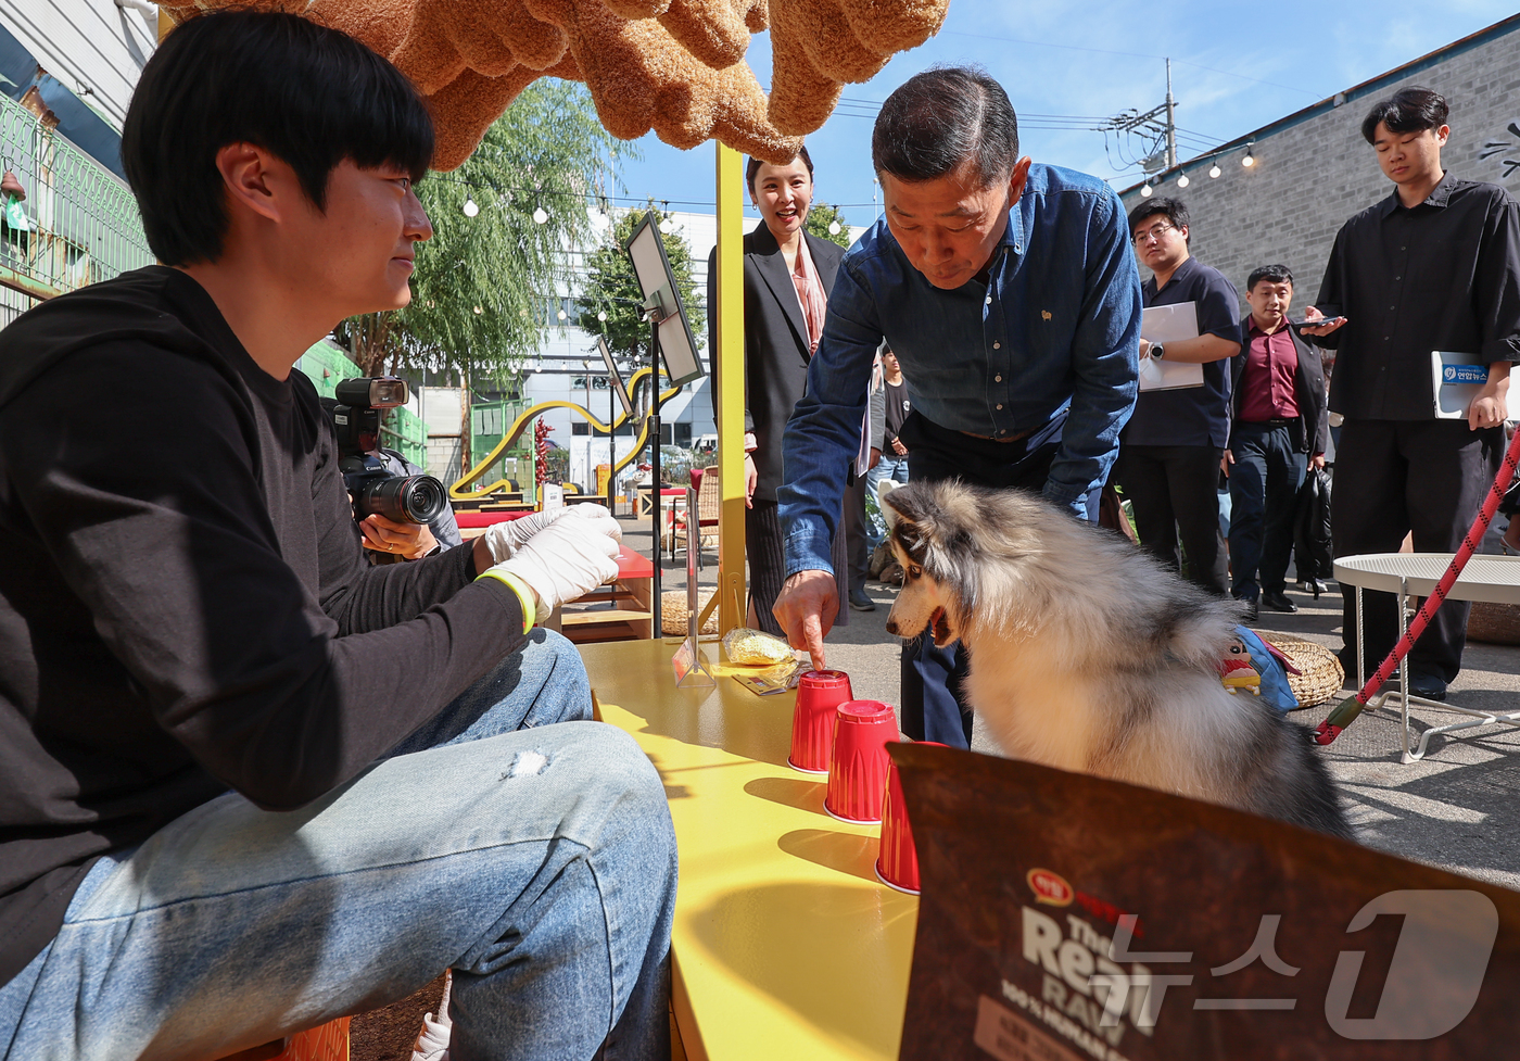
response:
<svg viewBox="0 0 1520 1061"><path fill-rule="evenodd" d="M1332 410L1430 420L1432 351L1520 357L1520 207L1450 173L1414 207L1394 190L1341 226L1315 306L1347 318L1315 339L1339 351Z"/></svg>

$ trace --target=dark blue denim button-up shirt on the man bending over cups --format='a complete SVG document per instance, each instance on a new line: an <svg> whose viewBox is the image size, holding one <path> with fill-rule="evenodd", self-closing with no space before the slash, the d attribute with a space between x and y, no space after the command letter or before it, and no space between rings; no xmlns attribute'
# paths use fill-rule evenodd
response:
<svg viewBox="0 0 1520 1061"><path fill-rule="evenodd" d="M1069 410L1044 496L1085 515L1138 388L1140 274L1119 196L1094 176L1031 166L986 284L933 287L885 217L845 252L783 442L787 575L833 570L828 543L883 337L914 410L941 427L1014 436Z"/></svg>

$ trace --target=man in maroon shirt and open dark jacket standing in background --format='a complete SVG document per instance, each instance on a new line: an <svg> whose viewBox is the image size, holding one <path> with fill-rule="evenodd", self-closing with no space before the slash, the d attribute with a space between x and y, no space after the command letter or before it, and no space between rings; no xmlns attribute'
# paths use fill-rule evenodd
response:
<svg viewBox="0 0 1520 1061"><path fill-rule="evenodd" d="M1246 280L1245 345L1230 359L1234 416L1230 476L1231 593L1257 608L1298 611L1287 599L1294 509L1307 464L1325 464L1325 378L1319 354L1287 324L1294 274L1262 266ZM1306 461L1307 456L1307 461Z"/></svg>

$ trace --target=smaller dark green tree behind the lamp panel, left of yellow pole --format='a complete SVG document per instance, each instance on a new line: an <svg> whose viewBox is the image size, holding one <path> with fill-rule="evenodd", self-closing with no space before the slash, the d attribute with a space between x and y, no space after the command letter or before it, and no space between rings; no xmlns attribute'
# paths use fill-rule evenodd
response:
<svg viewBox="0 0 1520 1061"><path fill-rule="evenodd" d="M664 219L654 202L652 210ZM620 363L628 366L643 365L649 359L649 324L641 319L640 304L643 292L638 289L638 277L634 275L634 263L623 252L623 245L632 237L634 230L644 219L644 210L631 210L617 219L608 233L606 240L587 255L587 280L581 296L576 299L576 324L590 334L605 336L606 345ZM681 306L686 307L687 324L698 344L707 337L707 315L704 302L705 292L698 298L696 284L692 283L692 246L679 226L660 234L664 243L666 257L670 260L670 271L675 274L676 289L681 295ZM606 319L602 319L602 315Z"/></svg>

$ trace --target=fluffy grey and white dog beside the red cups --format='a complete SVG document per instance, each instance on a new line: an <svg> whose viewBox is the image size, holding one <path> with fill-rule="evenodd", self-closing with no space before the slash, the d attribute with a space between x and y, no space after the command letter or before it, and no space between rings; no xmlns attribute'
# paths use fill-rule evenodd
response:
<svg viewBox="0 0 1520 1061"><path fill-rule="evenodd" d="M888 632L961 640L1005 754L1351 836L1307 733L1221 684L1237 605L1023 491L907 483L883 512L906 573Z"/></svg>

